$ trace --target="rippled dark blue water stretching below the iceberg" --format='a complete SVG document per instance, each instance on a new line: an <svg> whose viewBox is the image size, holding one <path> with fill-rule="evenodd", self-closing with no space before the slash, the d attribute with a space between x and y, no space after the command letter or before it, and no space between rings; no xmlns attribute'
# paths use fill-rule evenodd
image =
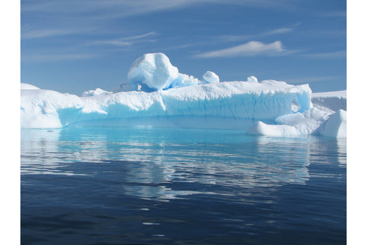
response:
<svg viewBox="0 0 367 245"><path fill-rule="evenodd" d="M21 131L22 244L346 244L346 140Z"/></svg>

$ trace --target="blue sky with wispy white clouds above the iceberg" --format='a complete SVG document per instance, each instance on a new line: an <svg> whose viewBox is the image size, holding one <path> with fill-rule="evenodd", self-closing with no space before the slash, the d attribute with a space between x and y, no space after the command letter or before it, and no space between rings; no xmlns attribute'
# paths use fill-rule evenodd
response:
<svg viewBox="0 0 367 245"><path fill-rule="evenodd" d="M346 1L22 0L21 82L81 95L164 52L181 73L346 89Z"/></svg>

